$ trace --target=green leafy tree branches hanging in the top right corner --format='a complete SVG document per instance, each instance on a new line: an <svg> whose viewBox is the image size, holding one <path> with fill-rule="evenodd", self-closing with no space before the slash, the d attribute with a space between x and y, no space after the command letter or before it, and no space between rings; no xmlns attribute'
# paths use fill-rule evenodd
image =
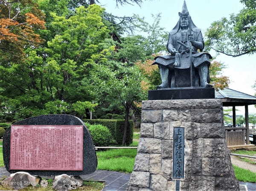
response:
<svg viewBox="0 0 256 191"><path fill-rule="evenodd" d="M256 3L255 0L240 2L244 8L238 14L215 21L207 29L208 48L232 57L256 52Z"/></svg>

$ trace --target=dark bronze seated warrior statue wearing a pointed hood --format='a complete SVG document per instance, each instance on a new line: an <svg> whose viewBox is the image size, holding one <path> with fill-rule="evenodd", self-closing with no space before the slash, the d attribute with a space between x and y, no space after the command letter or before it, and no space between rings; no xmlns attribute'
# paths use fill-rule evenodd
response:
<svg viewBox="0 0 256 191"><path fill-rule="evenodd" d="M212 57L201 52L204 49L201 29L193 23L185 0L179 16L180 20L169 33L167 50L171 54L154 59L153 65L158 65L162 80L157 88L210 88L212 85L209 84L209 66Z"/></svg>

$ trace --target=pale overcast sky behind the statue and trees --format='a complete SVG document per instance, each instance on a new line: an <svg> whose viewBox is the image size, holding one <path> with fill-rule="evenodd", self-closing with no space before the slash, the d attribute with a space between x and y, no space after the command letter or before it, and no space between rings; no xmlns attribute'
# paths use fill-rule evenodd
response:
<svg viewBox="0 0 256 191"><path fill-rule="evenodd" d="M102 6L112 14L118 16L138 14L140 17L144 17L148 23L153 21L151 14L161 13L161 26L166 31L171 31L177 23L178 12L181 11L183 5L183 0L147 0L141 7L137 5L116 7L115 1L100 0ZM213 21L229 17L230 14L238 13L243 8L239 0L186 0L186 3L192 20L198 28L202 29L203 33ZM214 51L211 51L211 54L215 56ZM223 74L230 77L229 87L231 89L250 95L256 93L252 88L256 80L256 54L236 58L221 54L216 60L224 62L227 66ZM237 114L244 114L243 107L238 107L238 109ZM256 113L254 105L249 106L249 113Z"/></svg>

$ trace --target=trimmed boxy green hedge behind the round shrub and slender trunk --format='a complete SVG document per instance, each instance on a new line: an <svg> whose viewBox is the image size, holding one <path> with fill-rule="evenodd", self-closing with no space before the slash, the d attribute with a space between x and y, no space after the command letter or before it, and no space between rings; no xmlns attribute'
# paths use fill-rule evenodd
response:
<svg viewBox="0 0 256 191"><path fill-rule="evenodd" d="M88 120L84 119L84 122L90 124L100 124L106 126L109 131L111 132L113 138L116 140L117 144L122 144L122 137L125 127L125 120L103 120L103 119L96 119L96 120ZM129 120L128 131L127 131L127 139L126 145L130 145L133 139L133 126L134 123L132 120Z"/></svg>

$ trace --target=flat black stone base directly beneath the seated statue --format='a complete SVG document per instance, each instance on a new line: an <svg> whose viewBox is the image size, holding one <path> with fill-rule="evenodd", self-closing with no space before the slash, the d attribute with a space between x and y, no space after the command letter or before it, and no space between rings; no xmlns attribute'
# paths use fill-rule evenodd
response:
<svg viewBox="0 0 256 191"><path fill-rule="evenodd" d="M214 88L163 88L148 91L148 100L214 99Z"/></svg>

